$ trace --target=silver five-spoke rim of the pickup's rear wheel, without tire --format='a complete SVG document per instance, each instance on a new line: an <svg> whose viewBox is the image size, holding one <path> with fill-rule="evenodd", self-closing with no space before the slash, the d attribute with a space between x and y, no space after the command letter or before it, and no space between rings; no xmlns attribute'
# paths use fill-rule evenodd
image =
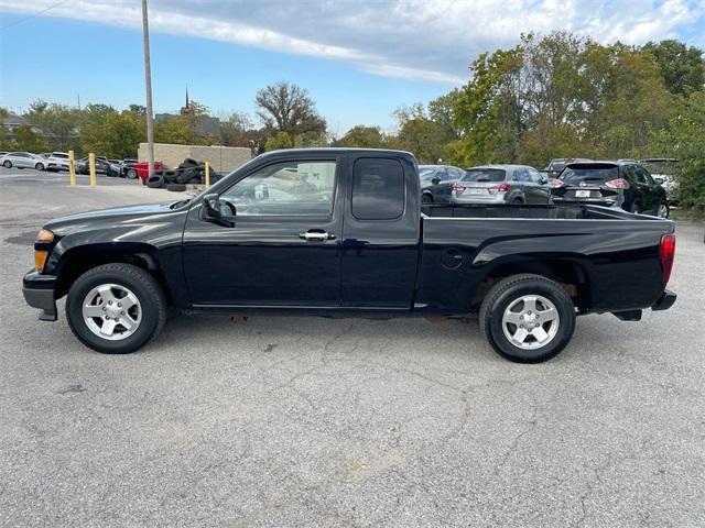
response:
<svg viewBox="0 0 705 528"><path fill-rule="evenodd" d="M514 346L535 350L549 344L558 332L561 317L555 305L540 295L524 295L512 301L502 316L505 337Z"/></svg>

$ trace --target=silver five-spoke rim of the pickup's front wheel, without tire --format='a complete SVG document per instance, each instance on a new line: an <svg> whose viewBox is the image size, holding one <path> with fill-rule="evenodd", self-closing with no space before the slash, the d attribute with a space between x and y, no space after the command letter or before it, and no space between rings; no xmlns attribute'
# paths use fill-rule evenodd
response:
<svg viewBox="0 0 705 528"><path fill-rule="evenodd" d="M132 336L140 327L142 306L124 286L101 284L84 298L82 315L93 333L101 339L119 341Z"/></svg>

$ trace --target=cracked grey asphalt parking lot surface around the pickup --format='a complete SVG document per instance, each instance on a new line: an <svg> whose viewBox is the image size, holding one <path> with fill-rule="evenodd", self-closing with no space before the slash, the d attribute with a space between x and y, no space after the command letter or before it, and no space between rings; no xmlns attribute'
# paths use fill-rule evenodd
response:
<svg viewBox="0 0 705 528"><path fill-rule="evenodd" d="M705 526L703 224L671 310L544 364L474 320L177 315L110 356L25 306L36 231L183 194L79 183L0 168L0 525Z"/></svg>

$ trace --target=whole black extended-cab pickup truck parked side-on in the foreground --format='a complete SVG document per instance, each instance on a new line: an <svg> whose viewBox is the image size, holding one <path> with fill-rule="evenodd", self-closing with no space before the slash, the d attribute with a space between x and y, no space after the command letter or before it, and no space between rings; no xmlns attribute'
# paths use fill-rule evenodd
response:
<svg viewBox="0 0 705 528"><path fill-rule="evenodd" d="M184 312L347 317L479 311L518 362L561 352L575 317L675 301L674 224L597 206L422 207L395 151L263 154L191 200L73 215L40 231L24 297L86 345L127 353Z"/></svg>

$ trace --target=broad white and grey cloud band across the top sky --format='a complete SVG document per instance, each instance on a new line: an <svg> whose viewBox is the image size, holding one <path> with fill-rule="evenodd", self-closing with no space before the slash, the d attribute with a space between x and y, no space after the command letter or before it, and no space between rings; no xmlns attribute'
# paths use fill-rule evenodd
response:
<svg viewBox="0 0 705 528"><path fill-rule="evenodd" d="M0 0L35 13L55 0ZM137 0L68 0L46 14L139 29ZM356 65L388 77L458 85L482 51L520 33L566 30L639 44L697 35L705 0L150 0L155 32ZM699 44L699 42L694 42Z"/></svg>

